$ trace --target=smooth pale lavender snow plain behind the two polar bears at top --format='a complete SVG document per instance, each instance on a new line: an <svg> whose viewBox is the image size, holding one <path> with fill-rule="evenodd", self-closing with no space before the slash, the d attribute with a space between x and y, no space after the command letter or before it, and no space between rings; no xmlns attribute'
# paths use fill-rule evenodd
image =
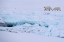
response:
<svg viewBox="0 0 64 42"><path fill-rule="evenodd" d="M44 6L60 7L63 11L63 0L0 0L0 11L43 11Z"/></svg>

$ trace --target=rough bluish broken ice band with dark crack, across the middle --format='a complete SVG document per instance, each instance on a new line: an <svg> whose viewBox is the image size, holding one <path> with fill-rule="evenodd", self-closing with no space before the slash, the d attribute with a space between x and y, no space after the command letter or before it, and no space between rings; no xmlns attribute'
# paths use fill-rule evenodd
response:
<svg viewBox="0 0 64 42"><path fill-rule="evenodd" d="M61 12L1 13L0 16L8 26L0 27L1 31L64 38L64 14Z"/></svg>

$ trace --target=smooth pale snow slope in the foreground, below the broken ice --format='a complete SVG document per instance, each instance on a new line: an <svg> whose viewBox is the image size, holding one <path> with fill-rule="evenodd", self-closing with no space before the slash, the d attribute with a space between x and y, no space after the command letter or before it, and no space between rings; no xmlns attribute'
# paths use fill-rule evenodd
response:
<svg viewBox="0 0 64 42"><path fill-rule="evenodd" d="M0 42L64 42L63 38L0 31Z"/></svg>

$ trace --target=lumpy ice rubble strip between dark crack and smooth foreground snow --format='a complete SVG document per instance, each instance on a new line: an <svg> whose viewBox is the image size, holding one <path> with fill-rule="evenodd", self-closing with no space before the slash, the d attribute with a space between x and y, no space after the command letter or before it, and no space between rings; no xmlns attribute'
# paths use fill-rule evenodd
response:
<svg viewBox="0 0 64 42"><path fill-rule="evenodd" d="M42 36L52 36L52 37L59 37L64 38L64 29L60 29L54 26L45 27L45 26L38 26L38 25L19 25L15 27L0 27L0 31L7 31L11 33L33 33Z"/></svg>

